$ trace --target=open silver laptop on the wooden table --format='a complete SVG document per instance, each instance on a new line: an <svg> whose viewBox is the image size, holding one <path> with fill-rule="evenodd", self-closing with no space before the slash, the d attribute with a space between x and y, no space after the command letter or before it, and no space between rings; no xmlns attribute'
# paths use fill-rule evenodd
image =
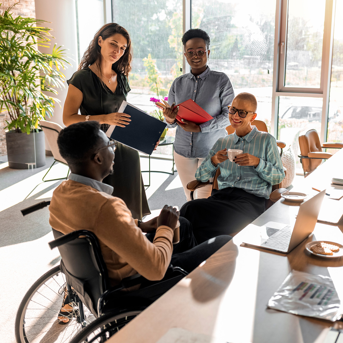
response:
<svg viewBox="0 0 343 343"><path fill-rule="evenodd" d="M268 222L256 232L255 237L246 238L243 243L264 249L288 253L306 239L314 230L326 190L300 204L294 226L289 224Z"/></svg>

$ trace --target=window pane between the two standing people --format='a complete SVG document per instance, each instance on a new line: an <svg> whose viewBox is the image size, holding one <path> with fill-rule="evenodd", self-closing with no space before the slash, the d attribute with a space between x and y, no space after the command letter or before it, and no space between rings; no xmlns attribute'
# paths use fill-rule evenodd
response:
<svg viewBox="0 0 343 343"><path fill-rule="evenodd" d="M171 83L182 74L182 0L112 0L112 11L113 21L132 40L128 102L157 116L150 98L168 96Z"/></svg>

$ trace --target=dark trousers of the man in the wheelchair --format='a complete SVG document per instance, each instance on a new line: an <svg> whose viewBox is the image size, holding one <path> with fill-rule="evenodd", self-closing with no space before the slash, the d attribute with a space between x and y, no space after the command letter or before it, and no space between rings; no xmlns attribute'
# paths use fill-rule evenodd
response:
<svg viewBox="0 0 343 343"><path fill-rule="evenodd" d="M194 238L192 225L185 218L180 217L180 242L173 246L173 255L170 263L174 267L181 267L190 273L198 265L213 255L218 249L226 244L232 237L219 236L201 244L197 244ZM154 240L155 233L146 234L145 237L151 242Z"/></svg>

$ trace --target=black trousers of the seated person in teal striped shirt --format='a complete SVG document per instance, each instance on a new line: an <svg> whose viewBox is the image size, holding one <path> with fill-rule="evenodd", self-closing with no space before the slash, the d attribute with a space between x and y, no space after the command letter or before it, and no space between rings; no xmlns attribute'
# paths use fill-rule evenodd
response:
<svg viewBox="0 0 343 343"><path fill-rule="evenodd" d="M229 187L213 190L207 199L188 201L181 207L180 216L191 222L194 237L202 243L240 231L265 211L265 201L243 189Z"/></svg>

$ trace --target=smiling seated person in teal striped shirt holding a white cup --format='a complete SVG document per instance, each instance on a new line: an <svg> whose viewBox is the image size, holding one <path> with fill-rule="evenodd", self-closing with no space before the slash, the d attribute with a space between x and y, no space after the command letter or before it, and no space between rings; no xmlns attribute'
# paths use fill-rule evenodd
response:
<svg viewBox="0 0 343 343"><path fill-rule="evenodd" d="M195 175L198 181L205 182L220 168L218 190L213 189L211 197L189 201L180 209L181 215L192 223L198 243L246 227L265 210L272 185L285 177L275 138L252 126L257 116L256 97L239 93L228 107L235 132L215 142ZM229 150L236 150L232 157Z"/></svg>

